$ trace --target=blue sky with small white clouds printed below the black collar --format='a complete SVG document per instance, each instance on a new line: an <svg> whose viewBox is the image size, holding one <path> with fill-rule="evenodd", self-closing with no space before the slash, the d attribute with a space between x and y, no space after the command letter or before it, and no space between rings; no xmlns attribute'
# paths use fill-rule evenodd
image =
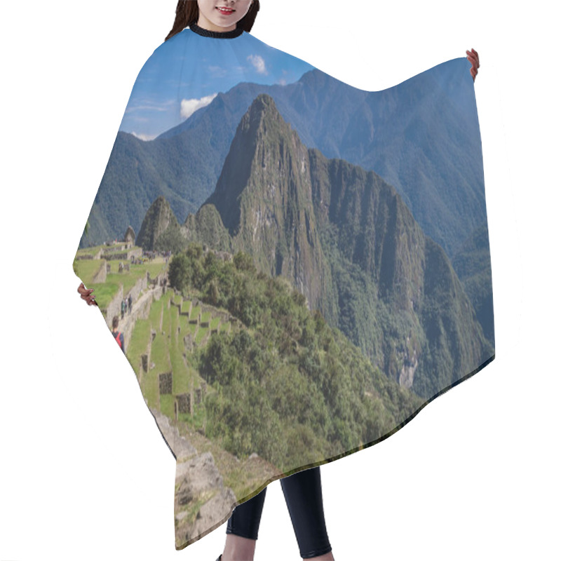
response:
<svg viewBox="0 0 561 561"><path fill-rule="evenodd" d="M240 82L287 84L311 69L245 32L216 39L187 28L156 48L144 64L119 130L151 140Z"/></svg>

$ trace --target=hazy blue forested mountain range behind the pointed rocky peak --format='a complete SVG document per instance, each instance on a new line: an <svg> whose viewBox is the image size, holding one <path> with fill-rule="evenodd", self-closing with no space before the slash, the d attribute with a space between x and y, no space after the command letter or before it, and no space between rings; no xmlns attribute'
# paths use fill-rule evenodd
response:
<svg viewBox="0 0 561 561"><path fill-rule="evenodd" d="M138 231L158 195L177 217L196 212L215 188L241 117L267 93L306 146L390 182L451 257L486 222L475 98L462 87L469 79L451 60L372 93L314 69L287 86L239 83L150 142L119 133L81 246L122 236L125 223Z"/></svg>

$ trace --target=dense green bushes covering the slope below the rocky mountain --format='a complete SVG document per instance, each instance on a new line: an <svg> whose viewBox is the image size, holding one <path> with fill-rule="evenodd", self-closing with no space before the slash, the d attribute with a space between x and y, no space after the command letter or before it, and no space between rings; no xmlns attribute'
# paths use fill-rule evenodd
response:
<svg viewBox="0 0 561 561"><path fill-rule="evenodd" d="M258 273L249 255L224 262L191 244L171 260L169 280L241 320L194 353L215 390L204 402L205 435L238 457L257 452L284 471L350 452L423 403L311 313L287 280Z"/></svg>

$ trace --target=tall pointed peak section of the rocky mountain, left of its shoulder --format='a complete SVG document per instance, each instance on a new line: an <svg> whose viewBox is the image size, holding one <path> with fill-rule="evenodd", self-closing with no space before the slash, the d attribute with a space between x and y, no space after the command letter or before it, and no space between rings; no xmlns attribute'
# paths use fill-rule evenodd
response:
<svg viewBox="0 0 561 561"><path fill-rule="evenodd" d="M315 308L330 285L316 229L308 150L276 110L258 95L241 119L214 193L232 236L259 269L290 278Z"/></svg>

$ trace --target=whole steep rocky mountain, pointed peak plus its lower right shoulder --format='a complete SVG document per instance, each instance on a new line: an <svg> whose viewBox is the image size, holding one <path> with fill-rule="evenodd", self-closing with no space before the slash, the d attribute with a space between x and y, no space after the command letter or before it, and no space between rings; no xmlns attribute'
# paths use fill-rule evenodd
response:
<svg viewBox="0 0 561 561"><path fill-rule="evenodd" d="M307 149L269 95L241 119L187 241L285 276L388 377L421 396L492 355L440 245L372 171Z"/></svg>

